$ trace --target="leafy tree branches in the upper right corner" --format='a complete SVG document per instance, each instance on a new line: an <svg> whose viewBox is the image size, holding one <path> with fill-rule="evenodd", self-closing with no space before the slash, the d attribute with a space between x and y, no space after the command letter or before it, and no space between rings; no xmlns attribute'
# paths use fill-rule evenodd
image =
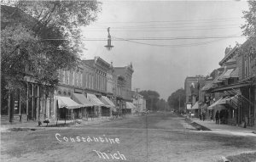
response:
<svg viewBox="0 0 256 162"><path fill-rule="evenodd" d="M244 36L256 35L256 1L248 1L249 10L243 11L246 24L241 26Z"/></svg>

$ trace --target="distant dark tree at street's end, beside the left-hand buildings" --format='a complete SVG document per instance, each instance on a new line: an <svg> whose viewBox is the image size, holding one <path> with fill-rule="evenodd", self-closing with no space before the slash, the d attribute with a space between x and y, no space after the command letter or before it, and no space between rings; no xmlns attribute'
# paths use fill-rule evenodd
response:
<svg viewBox="0 0 256 162"><path fill-rule="evenodd" d="M156 111L158 109L157 102L160 100L160 94L155 91L141 91L139 92L141 95L143 95L143 98L146 99L146 107L147 109Z"/></svg>

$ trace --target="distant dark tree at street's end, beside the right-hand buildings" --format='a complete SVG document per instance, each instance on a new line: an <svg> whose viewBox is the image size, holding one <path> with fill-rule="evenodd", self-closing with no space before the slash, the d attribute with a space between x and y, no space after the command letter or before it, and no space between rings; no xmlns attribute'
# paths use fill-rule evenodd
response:
<svg viewBox="0 0 256 162"><path fill-rule="evenodd" d="M171 108L177 109L183 108L186 101L185 90L183 88L178 89L176 92L172 92L168 98L168 103Z"/></svg>

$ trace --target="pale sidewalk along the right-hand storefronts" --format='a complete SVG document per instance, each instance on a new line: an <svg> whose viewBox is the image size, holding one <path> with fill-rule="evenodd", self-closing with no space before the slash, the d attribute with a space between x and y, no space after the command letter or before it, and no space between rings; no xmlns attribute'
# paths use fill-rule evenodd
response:
<svg viewBox="0 0 256 162"><path fill-rule="evenodd" d="M216 125L215 121L213 120L199 120L198 118L191 118L195 123L206 126L207 128L211 129L212 131L229 131L229 132L237 132L237 133L255 133L256 134L256 127L247 127L242 128L240 126L231 126L231 125Z"/></svg>

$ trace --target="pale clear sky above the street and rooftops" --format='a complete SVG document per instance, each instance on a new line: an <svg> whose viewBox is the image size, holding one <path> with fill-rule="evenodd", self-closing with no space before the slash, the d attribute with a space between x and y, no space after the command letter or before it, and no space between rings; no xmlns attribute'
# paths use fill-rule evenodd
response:
<svg viewBox="0 0 256 162"><path fill-rule="evenodd" d="M187 76L218 69L226 47L241 36L245 1L101 1L97 20L82 28L82 59L133 65L132 90L167 99ZM107 50L108 27L112 36Z"/></svg>

